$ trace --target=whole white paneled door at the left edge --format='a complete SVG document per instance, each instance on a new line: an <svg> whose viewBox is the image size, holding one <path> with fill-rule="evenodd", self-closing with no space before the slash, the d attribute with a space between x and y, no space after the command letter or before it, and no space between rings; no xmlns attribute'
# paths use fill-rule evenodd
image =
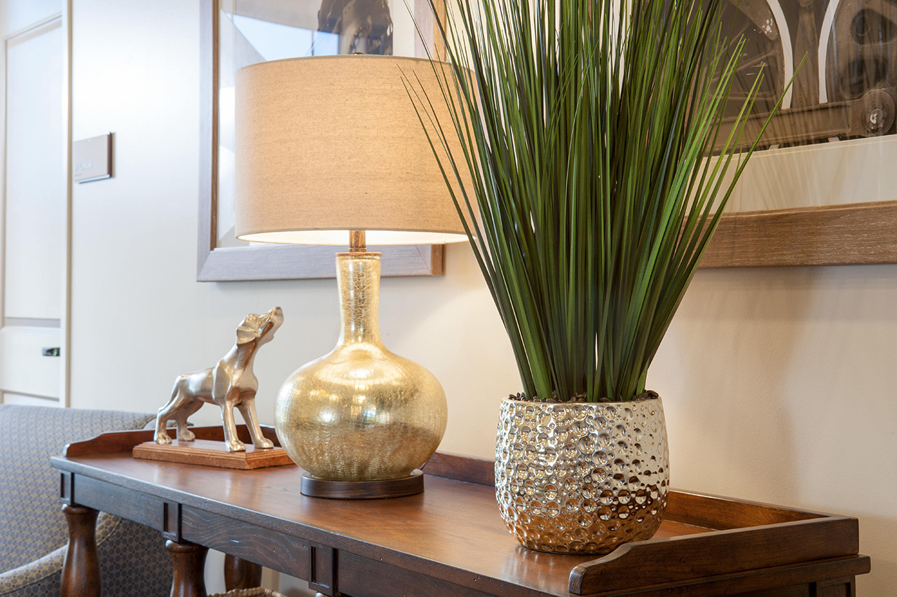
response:
<svg viewBox="0 0 897 597"><path fill-rule="evenodd" d="M6 403L66 401L66 29L57 13L3 39L0 393Z"/></svg>

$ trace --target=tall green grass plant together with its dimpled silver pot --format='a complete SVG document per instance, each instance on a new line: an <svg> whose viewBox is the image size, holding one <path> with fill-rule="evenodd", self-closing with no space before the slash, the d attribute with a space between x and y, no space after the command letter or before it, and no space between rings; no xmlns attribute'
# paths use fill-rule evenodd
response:
<svg viewBox="0 0 897 597"><path fill-rule="evenodd" d="M495 491L528 548L605 553L664 515L649 366L757 142L721 2L450 1L442 97L408 82L517 359Z"/></svg>

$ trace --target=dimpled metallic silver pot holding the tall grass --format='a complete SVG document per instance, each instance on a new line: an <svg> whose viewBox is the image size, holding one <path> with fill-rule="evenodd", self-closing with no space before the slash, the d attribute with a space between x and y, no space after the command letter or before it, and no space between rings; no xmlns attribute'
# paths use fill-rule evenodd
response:
<svg viewBox="0 0 897 597"><path fill-rule="evenodd" d="M527 548L600 554L649 539L668 494L659 398L501 403L495 496L508 530Z"/></svg>

